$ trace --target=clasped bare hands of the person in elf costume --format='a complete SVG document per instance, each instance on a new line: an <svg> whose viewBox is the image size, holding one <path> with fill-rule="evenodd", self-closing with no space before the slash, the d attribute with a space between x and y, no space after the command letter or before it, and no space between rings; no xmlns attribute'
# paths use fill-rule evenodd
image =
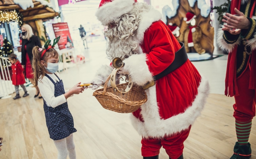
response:
<svg viewBox="0 0 256 159"><path fill-rule="evenodd" d="M229 13L226 13L226 15L223 16L224 19L222 19L222 22L227 23L224 26L232 29L249 29L250 21L236 8L235 12L239 17Z"/></svg>

